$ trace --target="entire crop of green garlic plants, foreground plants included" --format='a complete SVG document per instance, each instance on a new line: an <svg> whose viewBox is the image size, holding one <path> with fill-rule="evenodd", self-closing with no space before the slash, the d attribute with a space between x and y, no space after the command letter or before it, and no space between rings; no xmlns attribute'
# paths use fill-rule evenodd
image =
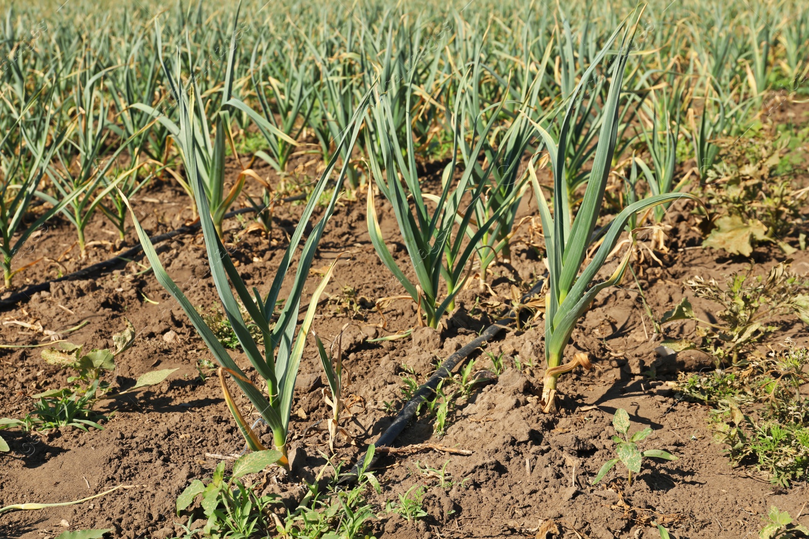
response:
<svg viewBox="0 0 809 539"><path fill-rule="evenodd" d="M92 8L75 2L68 9ZM368 188L371 240L430 326L452 309L472 259L477 257L485 278L493 256L507 254L516 208L530 179L549 259L544 404L552 411L557 377L576 364L561 364L570 332L595 293L619 280L625 269L627 259L590 286L625 222L647 208L688 197L676 192L681 186L674 169L682 164L676 158L678 141L687 133L697 174L704 174L717 157L714 139L733 134L760 107L775 78L799 80L798 58L806 51L805 17L796 19L797 30L772 32L743 14L718 11L713 20L722 26L706 31L693 15L684 30L662 22L643 26L645 19L621 22L620 4L602 19L582 16L582 6L574 4L553 23L532 8L510 6L509 12L483 3L466 13L427 15L375 3L358 6L358 14L330 9L290 6L284 21L259 10L248 15L257 27L252 30L239 27L236 13L178 4L157 16L108 14L102 19L106 26L54 24L36 40L17 37L21 19L9 11L4 28L0 211L6 288L19 271L11 268L15 255L49 217L61 212L76 227L83 251L84 229L95 210L123 234L129 196L151 175L170 171L198 208L214 284L266 391L253 385L218 344L163 271L135 221L138 238L159 282L180 301L221 364L228 406L248 444L263 448L231 398L225 374L272 428L282 464L294 379L314 315L310 307L297 323L303 284L344 179L349 189L372 182L392 204L416 279L409 280L388 251L375 218L374 189ZM689 9L705 12L696 5ZM648 12L654 14L654 8ZM774 13L766 16L775 20ZM662 16L658 12L650 20ZM574 26L571 21L577 20ZM646 34L642 40L639 25ZM702 38L701 32L706 36L701 47L682 56L684 36ZM647 44L654 47L646 49ZM235 152L234 133L252 125L266 143L256 156L275 171L286 171L299 139L308 133L327 163L266 293L248 291L221 240L225 211L255 174L243 171L227 188L226 148ZM355 146L363 130L364 144ZM426 190L417 160L434 144L451 145L443 154L449 162L438 194ZM582 271L614 160L636 147L648 154L649 163L633 162L650 196L613 217ZM541 152L549 156L553 172L550 203L535 171ZM533 157L526 160L526 155ZM293 292L276 318L273 306L303 228L338 163L328 207L303 242ZM26 221L37 197L49 202L49 209ZM659 211L654 216L662 218ZM310 305L316 305L324 285L325 280ZM263 353L239 303L260 327Z"/></svg>

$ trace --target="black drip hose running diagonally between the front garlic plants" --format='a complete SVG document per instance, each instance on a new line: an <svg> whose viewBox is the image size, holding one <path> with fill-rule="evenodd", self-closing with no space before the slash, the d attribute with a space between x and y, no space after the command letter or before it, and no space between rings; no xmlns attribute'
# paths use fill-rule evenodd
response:
<svg viewBox="0 0 809 539"><path fill-rule="evenodd" d="M521 303L525 303L528 298L532 297L534 294L538 293L544 284L545 279L542 278L536 283L531 290L528 291L521 299ZM481 347L481 344L485 343L489 339L492 339L494 335L497 335L500 331L506 329L510 322L513 322L516 318L516 314L514 310L509 310L508 313L505 314L506 318L502 318L498 320L498 322L494 322L491 326L487 327L481 335L478 335L477 338L472 339L469 343L467 343L464 347L462 347L458 352L455 352L451 356L447 357L446 360L438 367L438 370L435 371L433 376L430 377L424 384L419 386L416 390L416 393L413 394L413 397L404 405L404 407L399 411L396 415L396 419L393 420L393 423L379 436L379 439L375 442L375 447L377 448L388 448L391 447L391 444L396 440L402 431L404 431L404 427L407 427L408 423L416 416L416 411L418 407L421 406L423 402L427 400L430 395L435 393L438 384L443 381L444 378L450 377L452 371L455 367L460 364L463 360L468 358L468 356L472 355L472 352L475 352L477 348ZM371 465L375 465L376 461L379 459L380 453L376 453L374 458L371 460ZM348 474L345 474L343 478L341 478L340 483L345 484L349 482L355 482L357 480L358 468L360 463L365 461L365 454L362 454L357 459L357 464L351 469ZM369 467L370 467L369 466Z"/></svg>

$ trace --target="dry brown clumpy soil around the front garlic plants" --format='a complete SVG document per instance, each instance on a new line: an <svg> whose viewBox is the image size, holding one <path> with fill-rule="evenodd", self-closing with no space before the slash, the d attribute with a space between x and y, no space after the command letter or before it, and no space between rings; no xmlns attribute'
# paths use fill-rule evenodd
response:
<svg viewBox="0 0 809 539"><path fill-rule="evenodd" d="M380 199L383 231L400 266L409 267L404 246L397 243L396 221ZM157 185L140 196L137 211L147 231L156 234L174 229L188 218L187 203L176 188ZM533 213L533 205L526 197L522 214ZM282 204L271 238L245 234L231 246L249 284L263 288L272 279L286 246L284 229L294 226L299 211L299 206ZM663 266L649 260L641 265L642 287L655 316L679 301L684 279L720 277L748 264L718 251L696 248L700 235L688 224L688 208L672 209L669 219L671 251L662 257ZM235 219L227 225L231 232L239 229ZM384 329L376 327L383 319L375 310L366 309L367 301L358 301L356 312L342 308L344 287L354 288L357 297L371 303L400 293L400 287L379 263L367 238L364 200L341 205L327 230L314 267L326 266L343 251L349 252L350 259L338 263L328 287L332 300L321 305L315 329L324 339L333 339L346 324L354 324L343 337L351 380L348 392L357 397L357 404L350 408L356 421L347 421L346 427L359 448L364 448L392 420L385 402L392 402L396 410L400 407L403 364L413 369L419 382L425 381L438 361L473 339L503 304L509 304L512 283L526 291L544 267L530 245L534 241L530 230L523 226L515 238L511 263L493 268L489 282L494 296L477 288L464 291L458 310L440 333L419 330L407 339L367 343L367 336L392 335L413 326L415 305L394 301L384 311ZM104 218L97 216L88 238L113 245L95 246L87 259L78 259L75 250L63 255L74 241L74 230L54 221L32 241L19 264L47 258L20 274L23 279L18 284L49 280L59 272L109 258L120 247L114 245L111 231ZM133 242L131 234L128 242ZM159 252L167 271L195 305L205 309L215 305L201 235L176 238L161 245ZM774 248L759 248L755 256L760 272L784 258ZM805 251L798 251L794 259L796 271L809 270ZM39 322L50 331L64 331L88 320L87 326L66 339L89 347L110 346L112 333L123 329L124 318L128 318L138 330L138 338L116 360L116 384L121 389L155 368L179 370L162 385L109 403L108 410L115 414L103 431L3 431L11 445L11 453L0 457L3 505L65 502L121 484L134 487L79 505L8 513L2 516L0 536L51 537L70 526L114 528L114 537L172 537L179 532L173 523L188 523L188 516L178 517L174 512L177 495L192 478L210 476L219 461L210 455L242 450L244 440L222 400L218 380L210 376L203 381L197 373L197 361L210 357L204 343L154 277L141 273L142 259L137 262L121 263L115 271L91 280L53 284L49 292L36 293L31 301L2 313L4 322ZM309 290L317 279L311 276ZM709 309L700 301L693 303L697 310ZM667 381L675 379L681 368L711 368L706 358L693 354L684 363L658 364L655 380L642 374L655 361L654 347L660 338L651 334L633 280L599 295L574 332L574 347L588 352L595 368L561 378L561 413L557 417L543 415L538 404L542 327L540 319L488 344L485 351L502 352L509 368L496 382L461 402L450 415L446 436L435 438L434 418L422 415L398 440L401 446L432 442L464 448L472 451L471 456L428 452L380 461L376 473L383 492L371 495L379 508L380 520L374 525L377 537L535 537L540 521L549 518L561 526L561 537L659 537L652 521L664 523L677 537L755 537L770 505L792 515L802 508L807 499L805 485L781 490L755 470L731 469L722 447L711 440L706 422L709 411L673 394ZM692 332L693 326L687 323L667 328L669 337ZM777 339L787 336L807 344L807 331L798 323L788 324ZM0 326L2 343L43 340L41 333L13 323ZM307 427L327 416L320 391L320 364L313 343L309 344L290 427L291 446L299 449L298 471L291 477L283 477L277 470L265 473L273 488L289 499L300 495L302 479L311 480L326 465L319 452L328 452L325 432L311 429L303 437ZM248 366L243 355L232 353L243 368ZM485 354L476 357L481 367L490 366ZM525 367L522 373L511 367L515 357ZM530 364L534 366L526 366ZM67 373L41 360L37 349L0 350L0 391L6 396L0 403L0 416L22 417L31 409L28 395L62 387L66 377ZM247 411L246 399L238 395L236 399ZM610 421L617 408L629 411L633 428L654 428L643 447L663 448L680 459L647 462L632 486L615 472L603 484L591 486L599 467L613 456ZM359 448L344 442L338 446L341 458L353 462L358 456ZM454 484L446 489L436 485L434 478L419 473L417 462L439 469L446 462ZM417 483L429 485L424 499L429 517L413 524L384 514L388 499L397 500Z"/></svg>

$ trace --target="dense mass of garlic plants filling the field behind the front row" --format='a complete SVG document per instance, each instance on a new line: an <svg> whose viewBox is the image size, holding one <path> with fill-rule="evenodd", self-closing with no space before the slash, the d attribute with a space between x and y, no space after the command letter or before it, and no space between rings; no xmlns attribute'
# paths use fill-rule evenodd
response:
<svg viewBox="0 0 809 539"><path fill-rule="evenodd" d="M487 5L489 12L483 11L482 4L462 12L435 8L404 12L400 7L371 2L358 5L349 14L332 8L318 11L305 3L287 7L286 13L256 10L256 6L247 9L254 12L248 16L249 25L241 23L235 34L239 48L231 75L251 107L234 110L229 118L212 119L210 128L206 110L221 104L222 95L216 88L225 77L224 60L234 36L228 26L235 20L231 11L206 11L202 4L178 3L159 16L147 17L143 10L125 7L118 8L120 14L100 12L87 2L71 2L59 10L57 18L36 13L36 6L30 12L6 11L0 124L11 136L6 137L2 151L28 154L20 151L30 144L23 123L41 126L43 119L48 122L49 141L57 144L51 146L52 155L42 156L48 160L43 181L35 190L41 196L17 199L16 194L26 189L18 187L23 186L23 176L12 173L4 177L3 207L14 205L23 215L36 198L52 204L69 199L59 213L75 226L79 251L84 254L85 229L97 210L125 238L125 209L114 187L133 196L159 175L176 179L193 197L193 186L180 171L182 149L172 144L179 124L172 78L180 72L193 74L200 95L197 103L205 99L197 107L203 138L216 133L213 141L202 143L205 166L201 171L208 178L205 195L214 208L218 228L239 195L240 182L246 179L240 176L235 188L226 190L223 185L223 157L234 132L244 132L257 123L266 149L256 152L256 157L278 172L287 170L290 156L299 150L296 141L304 135L316 138L328 161L335 151L333 141L345 133L358 99L375 81L392 113L392 123L386 128L396 133L401 145L413 138L414 152L446 156L460 129L463 154L477 133L476 122L494 120L493 143L485 143L494 148L519 116L517 108L523 103L530 101L527 106L535 110L549 109L570 96L621 10L616 3L596 19L582 14L582 5L574 3L552 23L531 6L508 4ZM668 146L674 141L675 148L681 138L688 140L697 175L705 175L718 157L716 140L743 130L748 116L760 107L765 88L786 80L791 91L803 81L807 68L800 59L807 51L809 32L807 16L797 8L790 2L765 3L754 19L748 13L688 2L665 8L653 2L646 10L643 36L636 40L627 74L634 103L621 110L616 154L621 156L638 143L646 146L646 159L639 158L638 165L650 192L675 188L671 151L664 162L659 154L661 140ZM87 13L102 16L79 19ZM284 14L284 21L279 13ZM484 17L485 13L489 16ZM683 24L666 23L666 17L680 14ZM689 43L693 50L684 54ZM163 49L173 47L180 47L182 53L169 60L174 65L168 68ZM535 79L538 82L533 84ZM605 81L603 75L595 77L582 92L570 133L564 137L565 191L572 201L585 183L586 163L595 151L597 129L591 127L604 119L600 103L607 95ZM38 100L36 106L27 107L37 89L49 95L47 103ZM530 95L526 95L528 91ZM659 108L661 99L667 103L666 113L661 109L649 114L650 101ZM460 126L452 119L458 100L463 100L465 119ZM505 103L499 106L502 101ZM15 116L23 108L24 122ZM252 117L253 108L260 109L264 122ZM640 119L644 129L638 137L633 120L644 112L646 118ZM410 124L405 125L408 115ZM556 125L549 128L553 131ZM366 116L365 128L370 133L376 128L370 116ZM553 135L558 139L561 133ZM508 144L510 151L519 151L522 145L529 149L524 141ZM435 146L443 146L443 154ZM367 150L366 146L355 149L354 154L347 154L345 148L338 150L349 162L351 188L372 175L366 166ZM486 151L493 158L491 149ZM649 166L644 167L646 161ZM36 165L30 163L28 168ZM481 172L476 173L477 179ZM490 176L499 187L481 192L478 215L468 232L487 221L493 207L502 204L503 188L510 190L513 185L519 191L526 185L524 174L504 181L496 178L498 172L495 168ZM480 239L475 256L484 277L500 252L508 257L507 239L520 198L521 193ZM263 199L270 201L268 192ZM15 213L4 212L6 225L20 225L19 219L13 219ZM655 210L656 221L661 215L661 209ZM19 267L11 267L19 253L11 238L15 234L24 238L25 234L9 226L4 233L4 272L6 287L10 287L11 277L19 271Z"/></svg>

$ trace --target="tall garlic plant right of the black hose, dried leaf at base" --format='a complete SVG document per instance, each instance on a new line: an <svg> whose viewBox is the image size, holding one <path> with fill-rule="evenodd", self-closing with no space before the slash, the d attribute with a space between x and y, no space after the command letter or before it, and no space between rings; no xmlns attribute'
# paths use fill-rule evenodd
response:
<svg viewBox="0 0 809 539"><path fill-rule="evenodd" d="M595 255L592 256L583 271L581 270L588 248L591 246L595 225L601 214L604 191L607 188L610 165L616 145L616 133L619 127L621 82L624 77L626 62L629 58L632 39L637 29L638 19L639 15L629 27L627 21L621 23L621 26L612 33L612 36L604 44L601 52L594 58L592 65L582 75L581 80L570 96L565 114L561 117L560 139L555 141L548 131L536 124L536 128L540 132L550 156L553 169L553 192L557 194L557 196L553 197L552 215L548 200L545 198L544 191L536 177L536 172L533 167L529 169L532 174L536 202L540 208L549 269L549 292L545 297L545 359L548 362L548 369L544 374L542 390L545 412L556 411L558 377L563 373L570 372L580 364L587 366L587 359L580 357L574 358L567 364L561 364L565 347L570 340L570 335L573 333L578 318L590 307L595 296L604 288L620 283L624 276L629 263L629 251L627 251L627 254L621 259L621 262L610 276L597 284L591 285L602 267L608 262L608 255L621 237L629 218L647 208L653 208L656 205L665 204L672 200L684 198L698 200L697 197L688 193L660 193L629 204L621 213L613 217L601 245L595 251ZM587 85L596 65L610 52L612 44L621 30L624 30L624 35L620 41L618 54L613 59L610 69L611 84L607 100L604 103L604 119L600 124L598 143L593 154L591 171L587 178L587 188L582 203L574 214L573 207L570 204L570 197L559 196L560 193L567 192L565 183L566 135L570 123L574 120L574 106L579 93Z"/></svg>

